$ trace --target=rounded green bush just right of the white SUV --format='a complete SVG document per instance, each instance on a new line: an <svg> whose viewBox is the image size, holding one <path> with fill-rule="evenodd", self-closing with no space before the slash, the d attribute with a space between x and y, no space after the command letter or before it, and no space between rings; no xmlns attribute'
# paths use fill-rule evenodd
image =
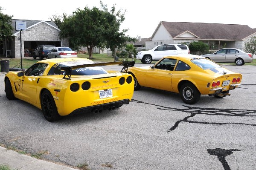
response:
<svg viewBox="0 0 256 170"><path fill-rule="evenodd" d="M209 51L209 45L201 41L193 41L189 44L189 50L191 54L202 55L205 52Z"/></svg>

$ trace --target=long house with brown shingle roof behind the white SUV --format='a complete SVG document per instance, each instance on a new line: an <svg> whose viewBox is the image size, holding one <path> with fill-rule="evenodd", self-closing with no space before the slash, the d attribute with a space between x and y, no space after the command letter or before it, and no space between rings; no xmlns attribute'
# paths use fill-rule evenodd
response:
<svg viewBox="0 0 256 170"><path fill-rule="evenodd" d="M145 40L145 49L166 43L202 41L212 50L224 47L243 50L244 43L253 36L256 36L256 29L247 25L161 21L153 35Z"/></svg>

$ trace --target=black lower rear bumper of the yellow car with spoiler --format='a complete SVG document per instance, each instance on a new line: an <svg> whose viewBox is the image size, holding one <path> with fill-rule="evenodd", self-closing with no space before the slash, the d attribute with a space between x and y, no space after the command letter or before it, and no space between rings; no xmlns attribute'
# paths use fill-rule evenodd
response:
<svg viewBox="0 0 256 170"><path fill-rule="evenodd" d="M106 103L106 104L82 107L82 108L74 110L69 115L83 114L83 113L89 113L89 112L94 112L94 113L102 112L103 110L111 110L111 109L121 107L123 104L129 104L129 102L130 102L129 99L124 99L121 101L114 101L114 102Z"/></svg>

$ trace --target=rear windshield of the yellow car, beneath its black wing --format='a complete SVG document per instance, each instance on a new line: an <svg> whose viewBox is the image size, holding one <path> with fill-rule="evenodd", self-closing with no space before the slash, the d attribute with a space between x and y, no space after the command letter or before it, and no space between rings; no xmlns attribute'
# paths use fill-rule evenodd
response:
<svg viewBox="0 0 256 170"><path fill-rule="evenodd" d="M55 65L52 66L52 68L49 70L47 75L64 75L65 71L61 70L61 67L77 66L81 64L90 64L90 62L68 61L68 62L56 63ZM108 72L100 66L83 67L79 69L73 69L71 71L71 75L100 75L100 74L106 74L106 73Z"/></svg>

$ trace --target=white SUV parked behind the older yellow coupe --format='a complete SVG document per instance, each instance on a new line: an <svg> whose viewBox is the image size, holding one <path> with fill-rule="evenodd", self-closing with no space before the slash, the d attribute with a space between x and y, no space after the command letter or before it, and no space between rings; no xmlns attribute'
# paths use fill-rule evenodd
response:
<svg viewBox="0 0 256 170"><path fill-rule="evenodd" d="M184 44L163 44L148 51L138 52L136 59L142 63L149 64L158 61L164 56L175 54L189 54L189 47Z"/></svg>

